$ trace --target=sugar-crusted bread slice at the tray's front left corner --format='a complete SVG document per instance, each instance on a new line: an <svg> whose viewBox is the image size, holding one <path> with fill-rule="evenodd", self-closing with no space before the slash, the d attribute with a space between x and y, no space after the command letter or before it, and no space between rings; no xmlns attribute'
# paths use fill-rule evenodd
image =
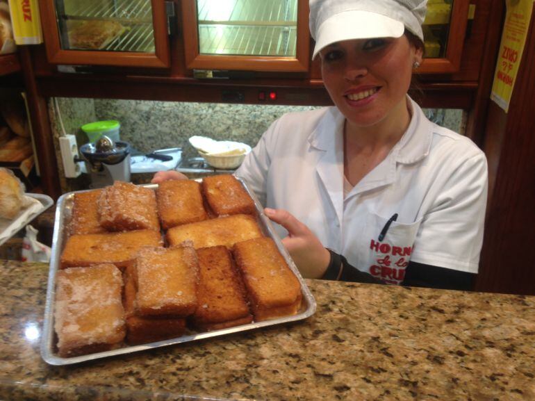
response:
<svg viewBox="0 0 535 401"><path fill-rule="evenodd" d="M115 265L58 271L54 329L60 357L110 350L123 341L121 293L122 276Z"/></svg>

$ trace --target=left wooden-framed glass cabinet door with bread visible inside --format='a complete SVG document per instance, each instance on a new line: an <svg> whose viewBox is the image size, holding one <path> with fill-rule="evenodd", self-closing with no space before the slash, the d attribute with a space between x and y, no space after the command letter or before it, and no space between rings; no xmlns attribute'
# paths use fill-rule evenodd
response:
<svg viewBox="0 0 535 401"><path fill-rule="evenodd" d="M165 2L40 0L51 63L168 67Z"/></svg>

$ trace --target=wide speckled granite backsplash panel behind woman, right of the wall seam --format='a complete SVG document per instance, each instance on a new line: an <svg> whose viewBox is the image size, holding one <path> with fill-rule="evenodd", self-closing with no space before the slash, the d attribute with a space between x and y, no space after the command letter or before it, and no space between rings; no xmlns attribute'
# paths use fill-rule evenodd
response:
<svg viewBox="0 0 535 401"><path fill-rule="evenodd" d="M236 140L254 147L262 133L278 117L313 106L182 103L95 99L98 120L119 120L121 138L141 152L183 147L183 156L196 156L188 138L194 135L217 140ZM431 120L463 132L463 111L425 109Z"/></svg>

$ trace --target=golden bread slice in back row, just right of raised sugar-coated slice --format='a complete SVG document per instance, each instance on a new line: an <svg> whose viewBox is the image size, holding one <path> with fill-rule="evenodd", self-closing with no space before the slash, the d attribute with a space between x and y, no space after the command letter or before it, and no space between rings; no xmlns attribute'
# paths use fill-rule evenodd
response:
<svg viewBox="0 0 535 401"><path fill-rule="evenodd" d="M188 179L167 180L156 190L158 214L163 229L206 220L201 184Z"/></svg>

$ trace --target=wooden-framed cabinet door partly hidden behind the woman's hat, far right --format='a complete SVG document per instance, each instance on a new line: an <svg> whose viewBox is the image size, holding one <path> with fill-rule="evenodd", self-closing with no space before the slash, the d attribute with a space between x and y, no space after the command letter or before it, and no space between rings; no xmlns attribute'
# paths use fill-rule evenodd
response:
<svg viewBox="0 0 535 401"><path fill-rule="evenodd" d="M468 22L469 0L429 0L422 26L425 54L419 73L458 72Z"/></svg>

